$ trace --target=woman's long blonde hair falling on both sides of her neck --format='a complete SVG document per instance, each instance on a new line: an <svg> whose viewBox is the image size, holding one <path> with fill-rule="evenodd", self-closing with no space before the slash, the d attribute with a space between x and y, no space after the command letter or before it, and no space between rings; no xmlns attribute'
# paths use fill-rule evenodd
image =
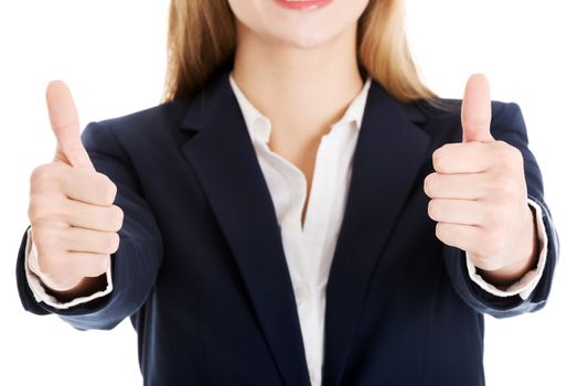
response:
<svg viewBox="0 0 578 386"><path fill-rule="evenodd" d="M232 68L235 17L227 0L171 0L164 100L192 97ZM405 32L403 0L370 0L357 23L357 63L396 99L432 99Z"/></svg>

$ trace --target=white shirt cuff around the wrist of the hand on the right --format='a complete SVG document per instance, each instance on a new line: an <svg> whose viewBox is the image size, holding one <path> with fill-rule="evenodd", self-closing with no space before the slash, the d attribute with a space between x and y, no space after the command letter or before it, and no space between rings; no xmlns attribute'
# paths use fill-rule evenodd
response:
<svg viewBox="0 0 578 386"><path fill-rule="evenodd" d="M546 227L544 226L544 222L542 219L542 207L536 204L531 199L527 199L528 205L531 205L535 210L535 222L537 225L537 236L539 240L539 245L542 245L542 249L539 251L538 256L538 265L535 269L528 271L526 275L524 275L518 281L514 282L510 287L507 287L505 290L501 290L496 288L495 286L486 282L482 277L477 274L475 266L473 265L472 260L468 256L468 253L465 253L465 265L468 267L468 274L470 276L470 279L475 282L478 286L480 286L483 290L486 292L490 292L496 297L512 297L515 294L520 294L520 297L525 300L534 288L538 285L539 279L542 278L542 272L544 271L544 267L546 266L546 251L548 249L548 237L546 235Z"/></svg>

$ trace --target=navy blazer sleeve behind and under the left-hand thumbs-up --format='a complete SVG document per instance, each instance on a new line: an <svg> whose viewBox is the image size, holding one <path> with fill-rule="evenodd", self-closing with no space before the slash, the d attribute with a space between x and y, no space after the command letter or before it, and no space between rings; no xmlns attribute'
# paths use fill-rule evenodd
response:
<svg viewBox="0 0 578 386"><path fill-rule="evenodd" d="M22 305L35 314L57 314L78 330L109 330L139 310L149 296L163 257L160 229L144 200L128 154L105 124L90 122L81 136L96 171L116 185L115 205L124 211L120 243L111 255L114 290L89 302L56 309L38 301L28 285L24 267L26 232L17 259L17 283ZM30 226L29 226L30 228ZM28 228L26 228L28 230Z"/></svg>

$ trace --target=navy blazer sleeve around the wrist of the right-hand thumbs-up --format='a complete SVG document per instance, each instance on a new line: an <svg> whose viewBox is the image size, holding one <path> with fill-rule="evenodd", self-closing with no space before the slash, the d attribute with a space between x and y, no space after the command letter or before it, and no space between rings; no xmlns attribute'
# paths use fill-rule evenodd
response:
<svg viewBox="0 0 578 386"><path fill-rule="evenodd" d="M528 138L520 106L515 103L492 103L492 124L490 131L496 140L503 140L520 149L524 159L524 173L527 185L527 199L542 208L542 222L548 238L546 265L542 277L526 299L520 294L497 297L474 283L468 274L465 251L445 245L443 259L448 275L458 294L474 310L494 318L507 318L525 312L534 312L545 307L552 288L555 267L559 256L559 240L552 213L544 197L542 172L536 158L528 149ZM539 218L536 218L540 221ZM537 248L538 250L540 247Z"/></svg>

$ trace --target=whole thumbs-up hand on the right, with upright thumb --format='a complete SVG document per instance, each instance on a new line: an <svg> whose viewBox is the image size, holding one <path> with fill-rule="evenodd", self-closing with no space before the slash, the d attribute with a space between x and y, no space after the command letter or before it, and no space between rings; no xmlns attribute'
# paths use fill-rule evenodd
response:
<svg viewBox="0 0 578 386"><path fill-rule="evenodd" d="M488 81L472 75L462 101L462 142L434 152L436 172L426 176L424 191L436 236L465 250L484 279L507 285L534 265L537 237L522 152L492 137L491 119Z"/></svg>

